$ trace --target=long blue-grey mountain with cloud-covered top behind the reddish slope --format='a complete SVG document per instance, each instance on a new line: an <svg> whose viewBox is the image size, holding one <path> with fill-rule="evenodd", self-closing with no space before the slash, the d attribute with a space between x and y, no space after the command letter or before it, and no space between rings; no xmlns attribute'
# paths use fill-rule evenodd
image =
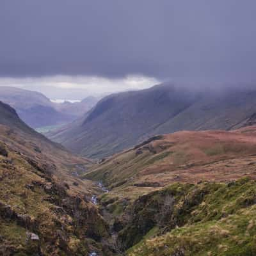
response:
<svg viewBox="0 0 256 256"><path fill-rule="evenodd" d="M255 99L255 90L199 92L161 84L109 95L48 136L77 154L102 158L155 134L242 127L256 113Z"/></svg>

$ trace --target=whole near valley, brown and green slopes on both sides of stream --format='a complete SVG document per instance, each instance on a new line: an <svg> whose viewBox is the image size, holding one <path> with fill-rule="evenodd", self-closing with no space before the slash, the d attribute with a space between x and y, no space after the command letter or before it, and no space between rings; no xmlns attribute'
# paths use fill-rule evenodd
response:
<svg viewBox="0 0 256 256"><path fill-rule="evenodd" d="M1 102L0 116L0 254L255 254L253 118L155 135L97 161Z"/></svg>

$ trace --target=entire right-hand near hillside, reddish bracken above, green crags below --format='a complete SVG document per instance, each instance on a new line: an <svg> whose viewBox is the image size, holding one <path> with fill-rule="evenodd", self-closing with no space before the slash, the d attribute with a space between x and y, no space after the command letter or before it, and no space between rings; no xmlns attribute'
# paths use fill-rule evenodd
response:
<svg viewBox="0 0 256 256"><path fill-rule="evenodd" d="M154 136L92 166L125 255L255 255L256 127Z"/></svg>

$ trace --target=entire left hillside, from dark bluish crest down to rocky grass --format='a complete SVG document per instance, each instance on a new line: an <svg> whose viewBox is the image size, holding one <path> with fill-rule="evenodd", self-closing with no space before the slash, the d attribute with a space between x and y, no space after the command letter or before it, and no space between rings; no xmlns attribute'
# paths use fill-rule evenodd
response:
<svg viewBox="0 0 256 256"><path fill-rule="evenodd" d="M97 188L77 177L91 164L0 102L0 255L111 255Z"/></svg>

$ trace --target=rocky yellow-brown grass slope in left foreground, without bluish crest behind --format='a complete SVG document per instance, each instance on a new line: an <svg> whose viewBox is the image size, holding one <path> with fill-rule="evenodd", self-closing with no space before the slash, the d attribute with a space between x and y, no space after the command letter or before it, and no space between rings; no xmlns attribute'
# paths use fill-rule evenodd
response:
<svg viewBox="0 0 256 256"><path fill-rule="evenodd" d="M0 255L108 252L108 224L90 202L92 184L16 143L0 138Z"/></svg>

